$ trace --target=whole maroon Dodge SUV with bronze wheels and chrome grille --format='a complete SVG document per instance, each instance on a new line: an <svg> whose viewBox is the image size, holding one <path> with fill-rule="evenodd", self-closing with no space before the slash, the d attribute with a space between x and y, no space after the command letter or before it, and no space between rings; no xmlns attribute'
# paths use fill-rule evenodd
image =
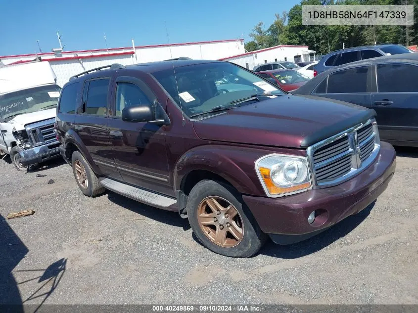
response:
<svg viewBox="0 0 418 313"><path fill-rule="evenodd" d="M372 110L294 96L224 61L100 69L65 84L56 114L80 190L179 212L216 253L249 257L267 234L307 239L363 210L394 174ZM231 75L242 89L217 87Z"/></svg>

